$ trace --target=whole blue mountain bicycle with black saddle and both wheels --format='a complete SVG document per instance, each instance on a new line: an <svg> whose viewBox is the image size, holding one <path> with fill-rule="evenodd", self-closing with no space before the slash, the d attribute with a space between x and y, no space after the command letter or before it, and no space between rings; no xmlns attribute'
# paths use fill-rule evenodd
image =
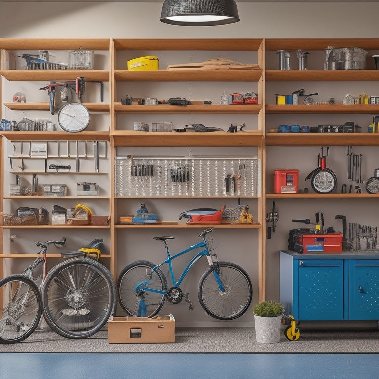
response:
<svg viewBox="0 0 379 379"><path fill-rule="evenodd" d="M166 248L167 259L159 265L149 261L135 261L127 265L118 279L118 300L122 309L130 316L156 315L167 299L178 304L183 299L189 308L194 304L180 288L191 267L203 256L208 260L209 267L199 281L198 298L200 305L210 316L219 320L233 320L242 316L252 300L252 285L246 271L230 262L218 262L217 256L211 253L210 233L213 228L205 229L199 235L202 242L189 246L187 249L170 255L167 240L174 237L154 237L162 241ZM200 249L190 260L178 280L175 278L172 261L186 253ZM167 288L167 278L161 271L162 265L168 265L173 286Z"/></svg>

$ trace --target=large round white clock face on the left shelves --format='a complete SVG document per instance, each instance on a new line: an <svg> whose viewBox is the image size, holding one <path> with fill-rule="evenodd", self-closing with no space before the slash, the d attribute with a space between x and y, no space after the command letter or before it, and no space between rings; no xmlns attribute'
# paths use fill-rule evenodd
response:
<svg viewBox="0 0 379 379"><path fill-rule="evenodd" d="M90 113L81 103L64 105L58 112L58 122L66 132L81 132L89 125Z"/></svg>

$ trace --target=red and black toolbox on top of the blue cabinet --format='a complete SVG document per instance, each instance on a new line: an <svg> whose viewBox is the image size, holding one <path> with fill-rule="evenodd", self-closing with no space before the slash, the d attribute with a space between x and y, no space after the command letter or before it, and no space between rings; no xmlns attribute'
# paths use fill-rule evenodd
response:
<svg viewBox="0 0 379 379"><path fill-rule="evenodd" d="M289 231L288 249L298 253L342 253L342 233L316 234L315 229Z"/></svg>

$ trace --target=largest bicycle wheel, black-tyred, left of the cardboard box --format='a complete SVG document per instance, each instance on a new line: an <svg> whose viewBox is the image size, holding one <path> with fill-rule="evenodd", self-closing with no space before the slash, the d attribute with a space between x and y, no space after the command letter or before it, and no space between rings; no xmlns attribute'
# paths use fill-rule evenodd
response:
<svg viewBox="0 0 379 379"><path fill-rule="evenodd" d="M53 267L42 287L43 315L60 336L79 339L98 332L114 314L117 297L109 270L91 258Z"/></svg>

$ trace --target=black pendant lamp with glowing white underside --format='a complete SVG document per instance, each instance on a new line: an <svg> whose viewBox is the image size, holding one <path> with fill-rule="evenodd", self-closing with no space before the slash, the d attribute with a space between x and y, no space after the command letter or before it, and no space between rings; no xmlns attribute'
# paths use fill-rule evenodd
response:
<svg viewBox="0 0 379 379"><path fill-rule="evenodd" d="M234 0L165 0L160 21L185 26L212 26L239 21Z"/></svg>

